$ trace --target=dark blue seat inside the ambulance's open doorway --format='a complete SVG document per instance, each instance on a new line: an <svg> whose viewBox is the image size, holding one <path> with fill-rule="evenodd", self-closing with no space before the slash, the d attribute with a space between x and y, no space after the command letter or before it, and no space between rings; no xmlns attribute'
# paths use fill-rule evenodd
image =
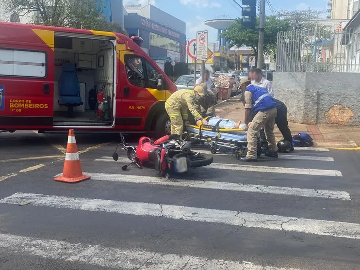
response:
<svg viewBox="0 0 360 270"><path fill-rule="evenodd" d="M59 95L59 105L67 106L69 114L72 114L73 107L81 106L83 104L80 96L80 85L78 76L76 75L75 64L63 64L59 78Z"/></svg>

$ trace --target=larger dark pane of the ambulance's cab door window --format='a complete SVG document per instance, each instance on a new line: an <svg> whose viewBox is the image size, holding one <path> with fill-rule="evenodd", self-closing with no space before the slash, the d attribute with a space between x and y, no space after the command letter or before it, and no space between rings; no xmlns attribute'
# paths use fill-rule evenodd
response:
<svg viewBox="0 0 360 270"><path fill-rule="evenodd" d="M126 55L126 74L132 85L145 87L143 59L136 55Z"/></svg>

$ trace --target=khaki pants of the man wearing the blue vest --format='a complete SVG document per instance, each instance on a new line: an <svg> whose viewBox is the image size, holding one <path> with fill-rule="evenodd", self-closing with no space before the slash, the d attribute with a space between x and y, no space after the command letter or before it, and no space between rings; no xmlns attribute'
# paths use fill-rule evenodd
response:
<svg viewBox="0 0 360 270"><path fill-rule="evenodd" d="M259 111L253 118L247 130L247 155L249 159L257 158L258 133L264 127L266 140L269 143L270 152L277 152L278 147L275 142L274 125L276 118L276 108Z"/></svg>

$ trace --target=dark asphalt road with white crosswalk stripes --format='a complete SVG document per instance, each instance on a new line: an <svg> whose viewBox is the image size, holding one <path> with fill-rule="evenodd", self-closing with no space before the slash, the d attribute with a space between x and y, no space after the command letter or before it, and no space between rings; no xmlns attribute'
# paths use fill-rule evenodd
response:
<svg viewBox="0 0 360 270"><path fill-rule="evenodd" d="M0 134L0 269L360 269L359 151L219 153L166 180L121 171L116 135L76 140L92 178L66 184L66 135Z"/></svg>

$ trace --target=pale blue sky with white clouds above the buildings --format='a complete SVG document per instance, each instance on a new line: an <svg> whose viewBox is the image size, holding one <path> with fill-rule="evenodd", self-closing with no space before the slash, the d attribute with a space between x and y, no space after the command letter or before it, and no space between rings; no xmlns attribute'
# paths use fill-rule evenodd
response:
<svg viewBox="0 0 360 270"><path fill-rule="evenodd" d="M241 0L235 0L241 5ZM149 0L123 0L123 4L146 5ZM214 42L217 30L204 25L205 20L226 16L236 18L241 16L241 8L234 0L150 0L152 5L164 12L186 22L186 38L193 39L196 31L208 30L209 42ZM271 7L270 7L270 5ZM272 15L277 10L326 9L327 0L266 0L266 15Z"/></svg>

